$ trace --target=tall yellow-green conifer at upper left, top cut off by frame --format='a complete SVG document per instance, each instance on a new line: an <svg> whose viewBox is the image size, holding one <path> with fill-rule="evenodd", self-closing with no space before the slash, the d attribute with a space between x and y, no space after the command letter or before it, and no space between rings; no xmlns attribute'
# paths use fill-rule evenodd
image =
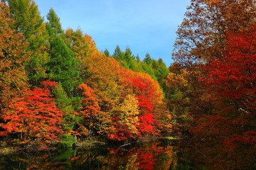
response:
<svg viewBox="0 0 256 170"><path fill-rule="evenodd" d="M32 0L6 0L11 16L16 21L12 26L22 33L28 42L26 51L31 52L31 58L26 64L28 78L33 85L40 85L46 77L44 64L48 62L48 33L38 6Z"/></svg>

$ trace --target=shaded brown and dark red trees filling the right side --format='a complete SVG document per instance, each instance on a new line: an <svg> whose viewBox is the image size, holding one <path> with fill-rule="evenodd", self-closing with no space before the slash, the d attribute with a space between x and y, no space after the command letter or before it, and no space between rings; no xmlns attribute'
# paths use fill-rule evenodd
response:
<svg viewBox="0 0 256 170"><path fill-rule="evenodd" d="M213 169L255 168L255 4L191 0L176 32L169 111Z"/></svg>

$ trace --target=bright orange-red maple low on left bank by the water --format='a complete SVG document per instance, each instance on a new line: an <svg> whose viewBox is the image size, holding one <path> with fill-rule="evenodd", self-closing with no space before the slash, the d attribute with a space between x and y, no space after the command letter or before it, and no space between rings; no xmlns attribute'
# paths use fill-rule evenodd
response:
<svg viewBox="0 0 256 170"><path fill-rule="evenodd" d="M63 133L60 123L63 113L55 106L50 89L57 85L53 81L43 81L43 88L35 88L25 93L11 103L12 111L3 116L0 135L10 133L19 137L20 143L40 144L46 147L53 141L58 141L58 135Z"/></svg>

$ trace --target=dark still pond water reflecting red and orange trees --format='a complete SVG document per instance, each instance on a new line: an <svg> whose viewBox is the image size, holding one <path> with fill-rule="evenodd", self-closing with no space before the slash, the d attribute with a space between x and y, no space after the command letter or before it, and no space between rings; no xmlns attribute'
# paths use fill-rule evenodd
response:
<svg viewBox="0 0 256 170"><path fill-rule="evenodd" d="M200 145L202 146L202 145ZM222 159L210 160L209 150L191 147L183 142L159 140L157 142L120 145L97 145L47 151L26 151L0 155L0 169L254 169L255 159L245 156L233 159L225 153L215 156ZM213 155L213 154L212 154ZM241 156L241 154L239 154ZM253 164L253 166L248 166Z"/></svg>

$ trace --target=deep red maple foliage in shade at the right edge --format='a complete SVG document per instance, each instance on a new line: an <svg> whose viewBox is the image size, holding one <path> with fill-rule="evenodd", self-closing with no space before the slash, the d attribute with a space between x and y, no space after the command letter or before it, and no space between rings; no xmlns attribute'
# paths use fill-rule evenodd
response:
<svg viewBox="0 0 256 170"><path fill-rule="evenodd" d="M199 79L215 98L215 115L201 116L192 132L218 136L228 157L250 160L256 145L256 26L227 38L226 55L204 65L208 76Z"/></svg>

